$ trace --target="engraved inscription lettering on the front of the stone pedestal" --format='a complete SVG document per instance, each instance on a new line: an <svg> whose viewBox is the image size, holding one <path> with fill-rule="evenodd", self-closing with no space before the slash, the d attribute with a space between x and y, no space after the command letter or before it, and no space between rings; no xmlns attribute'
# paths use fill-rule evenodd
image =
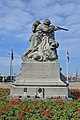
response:
<svg viewBox="0 0 80 120"><path fill-rule="evenodd" d="M54 63L24 63L22 74L27 78L56 78L59 76L58 69L58 64Z"/></svg>

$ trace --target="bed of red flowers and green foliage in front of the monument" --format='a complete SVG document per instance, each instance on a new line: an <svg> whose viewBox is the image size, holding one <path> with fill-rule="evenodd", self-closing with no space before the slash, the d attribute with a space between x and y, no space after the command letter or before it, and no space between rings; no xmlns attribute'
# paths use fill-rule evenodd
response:
<svg viewBox="0 0 80 120"><path fill-rule="evenodd" d="M63 100L7 100L8 90L0 90L0 120L79 120L80 99L73 102ZM4 96L3 96L4 95ZM2 99L1 99L2 98Z"/></svg>

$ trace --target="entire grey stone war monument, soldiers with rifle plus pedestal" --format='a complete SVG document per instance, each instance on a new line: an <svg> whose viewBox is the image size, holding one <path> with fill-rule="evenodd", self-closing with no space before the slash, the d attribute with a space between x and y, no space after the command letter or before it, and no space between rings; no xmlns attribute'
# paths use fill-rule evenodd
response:
<svg viewBox="0 0 80 120"><path fill-rule="evenodd" d="M58 63L54 32L67 30L51 25L49 19L32 26L30 48L22 55L21 73L12 84L12 96L68 97L68 83Z"/></svg>

